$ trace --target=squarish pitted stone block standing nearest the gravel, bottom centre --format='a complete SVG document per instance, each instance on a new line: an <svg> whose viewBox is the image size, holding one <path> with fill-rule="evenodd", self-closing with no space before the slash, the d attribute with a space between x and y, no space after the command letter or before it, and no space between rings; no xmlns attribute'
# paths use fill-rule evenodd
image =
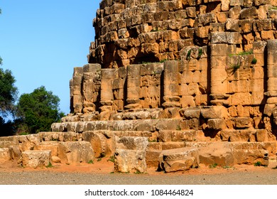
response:
<svg viewBox="0 0 277 199"><path fill-rule="evenodd" d="M116 149L114 171L121 173L146 173L146 151Z"/></svg>

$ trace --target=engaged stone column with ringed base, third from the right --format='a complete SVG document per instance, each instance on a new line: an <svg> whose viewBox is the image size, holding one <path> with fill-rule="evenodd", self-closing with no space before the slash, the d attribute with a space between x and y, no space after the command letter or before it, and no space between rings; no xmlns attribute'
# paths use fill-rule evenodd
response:
<svg viewBox="0 0 277 199"><path fill-rule="evenodd" d="M163 107L180 107L179 96L179 61L170 60L164 64Z"/></svg>

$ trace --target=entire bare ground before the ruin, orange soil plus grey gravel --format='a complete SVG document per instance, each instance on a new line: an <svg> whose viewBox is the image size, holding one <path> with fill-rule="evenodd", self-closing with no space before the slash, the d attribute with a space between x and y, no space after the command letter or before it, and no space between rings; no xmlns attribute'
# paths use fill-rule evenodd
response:
<svg viewBox="0 0 277 199"><path fill-rule="evenodd" d="M276 161L268 167L234 166L232 168L200 168L176 173L163 173L148 169L146 174L113 173L113 163L103 158L93 164L62 165L53 168L22 168L16 161L0 164L0 184L25 185L277 185Z"/></svg>

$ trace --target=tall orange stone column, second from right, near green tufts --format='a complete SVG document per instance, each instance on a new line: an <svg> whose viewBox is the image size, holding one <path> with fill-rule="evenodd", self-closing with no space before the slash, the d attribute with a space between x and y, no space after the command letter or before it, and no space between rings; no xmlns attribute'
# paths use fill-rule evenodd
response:
<svg viewBox="0 0 277 199"><path fill-rule="evenodd" d="M231 53L231 45L217 43L211 45L210 72L211 72L211 94L213 105L228 104L227 71L228 54Z"/></svg>

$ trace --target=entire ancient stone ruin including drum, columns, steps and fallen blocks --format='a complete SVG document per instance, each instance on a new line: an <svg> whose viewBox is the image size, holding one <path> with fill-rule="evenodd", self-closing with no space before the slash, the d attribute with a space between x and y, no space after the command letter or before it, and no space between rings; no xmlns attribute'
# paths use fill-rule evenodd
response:
<svg viewBox="0 0 277 199"><path fill-rule="evenodd" d="M275 6L102 0L88 64L70 80L72 113L53 132L0 138L0 159L24 163L32 150L62 163L114 156L124 173L268 165L277 144Z"/></svg>

